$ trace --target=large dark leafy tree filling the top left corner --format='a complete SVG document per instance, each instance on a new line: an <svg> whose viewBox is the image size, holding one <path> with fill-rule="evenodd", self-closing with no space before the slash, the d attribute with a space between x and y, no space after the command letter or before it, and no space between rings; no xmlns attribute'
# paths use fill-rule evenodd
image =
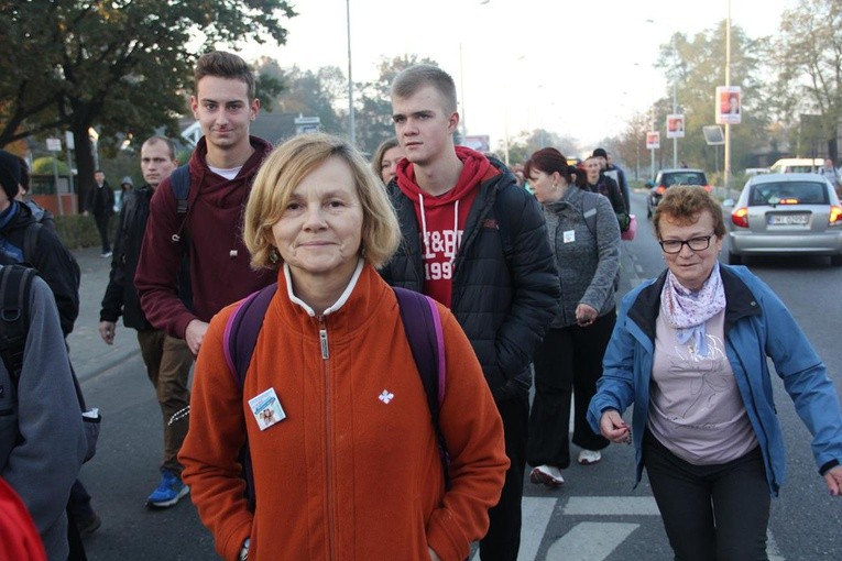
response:
<svg viewBox="0 0 842 561"><path fill-rule="evenodd" d="M175 134L197 52L241 41L283 44L286 0L0 0L0 146L68 128L80 197L92 182L88 130ZM194 36L204 45L197 50Z"/></svg>

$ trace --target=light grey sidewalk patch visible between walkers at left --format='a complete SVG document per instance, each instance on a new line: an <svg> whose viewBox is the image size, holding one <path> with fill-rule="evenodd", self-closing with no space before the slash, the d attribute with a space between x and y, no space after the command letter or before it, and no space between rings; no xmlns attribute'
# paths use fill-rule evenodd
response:
<svg viewBox="0 0 842 561"><path fill-rule="evenodd" d="M99 337L99 309L108 286L111 258L99 256L99 248L73 250L79 262L81 285L79 287L79 317L73 333L67 338L70 360L80 381L91 378L140 354L133 329L127 329L122 318L117 323L114 344L108 345Z"/></svg>

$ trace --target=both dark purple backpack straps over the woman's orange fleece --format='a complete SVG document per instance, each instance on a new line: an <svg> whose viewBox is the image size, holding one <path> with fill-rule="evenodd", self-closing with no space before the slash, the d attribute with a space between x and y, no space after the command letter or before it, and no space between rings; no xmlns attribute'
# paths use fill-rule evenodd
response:
<svg viewBox="0 0 842 561"><path fill-rule="evenodd" d="M424 393L427 395L427 405L433 417L433 429L436 432L439 455L441 457L445 488L449 490L448 465L450 458L447 452L445 436L439 427L439 409L445 399L445 382L447 380L441 318L431 298L405 288L393 287L392 289L397 297L397 307L401 310L401 320L404 323L406 339L409 342L409 349L422 378ZM277 283L273 283L256 293L252 293L240 302L226 323L223 334L226 362L241 391L245 383L245 373L251 363L258 336L263 327L263 318L269 309L269 302L272 301L276 292ZM245 497L253 509L255 497L248 438L240 451L240 463L243 466L243 477L245 479Z"/></svg>

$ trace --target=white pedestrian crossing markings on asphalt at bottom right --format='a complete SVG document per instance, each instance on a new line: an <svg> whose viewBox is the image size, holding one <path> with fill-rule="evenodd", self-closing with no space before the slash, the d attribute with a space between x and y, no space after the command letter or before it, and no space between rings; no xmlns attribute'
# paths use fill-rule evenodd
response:
<svg viewBox="0 0 842 561"><path fill-rule="evenodd" d="M564 536L549 544L540 561L601 561L608 559L643 524L660 524L653 497L524 497L517 561L538 561L538 551L557 509L560 509L561 516L591 519L573 524ZM635 521L606 520L609 516L637 518ZM767 535L766 552L769 561L786 561L770 532ZM471 560L479 559L477 551Z"/></svg>

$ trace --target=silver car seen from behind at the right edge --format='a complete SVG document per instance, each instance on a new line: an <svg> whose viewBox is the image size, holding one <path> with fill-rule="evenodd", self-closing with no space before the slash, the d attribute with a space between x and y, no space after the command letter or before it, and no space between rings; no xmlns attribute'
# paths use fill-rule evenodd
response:
<svg viewBox="0 0 842 561"><path fill-rule="evenodd" d="M731 212L728 262L750 255L828 255L842 266L842 206L816 174L757 175Z"/></svg>

